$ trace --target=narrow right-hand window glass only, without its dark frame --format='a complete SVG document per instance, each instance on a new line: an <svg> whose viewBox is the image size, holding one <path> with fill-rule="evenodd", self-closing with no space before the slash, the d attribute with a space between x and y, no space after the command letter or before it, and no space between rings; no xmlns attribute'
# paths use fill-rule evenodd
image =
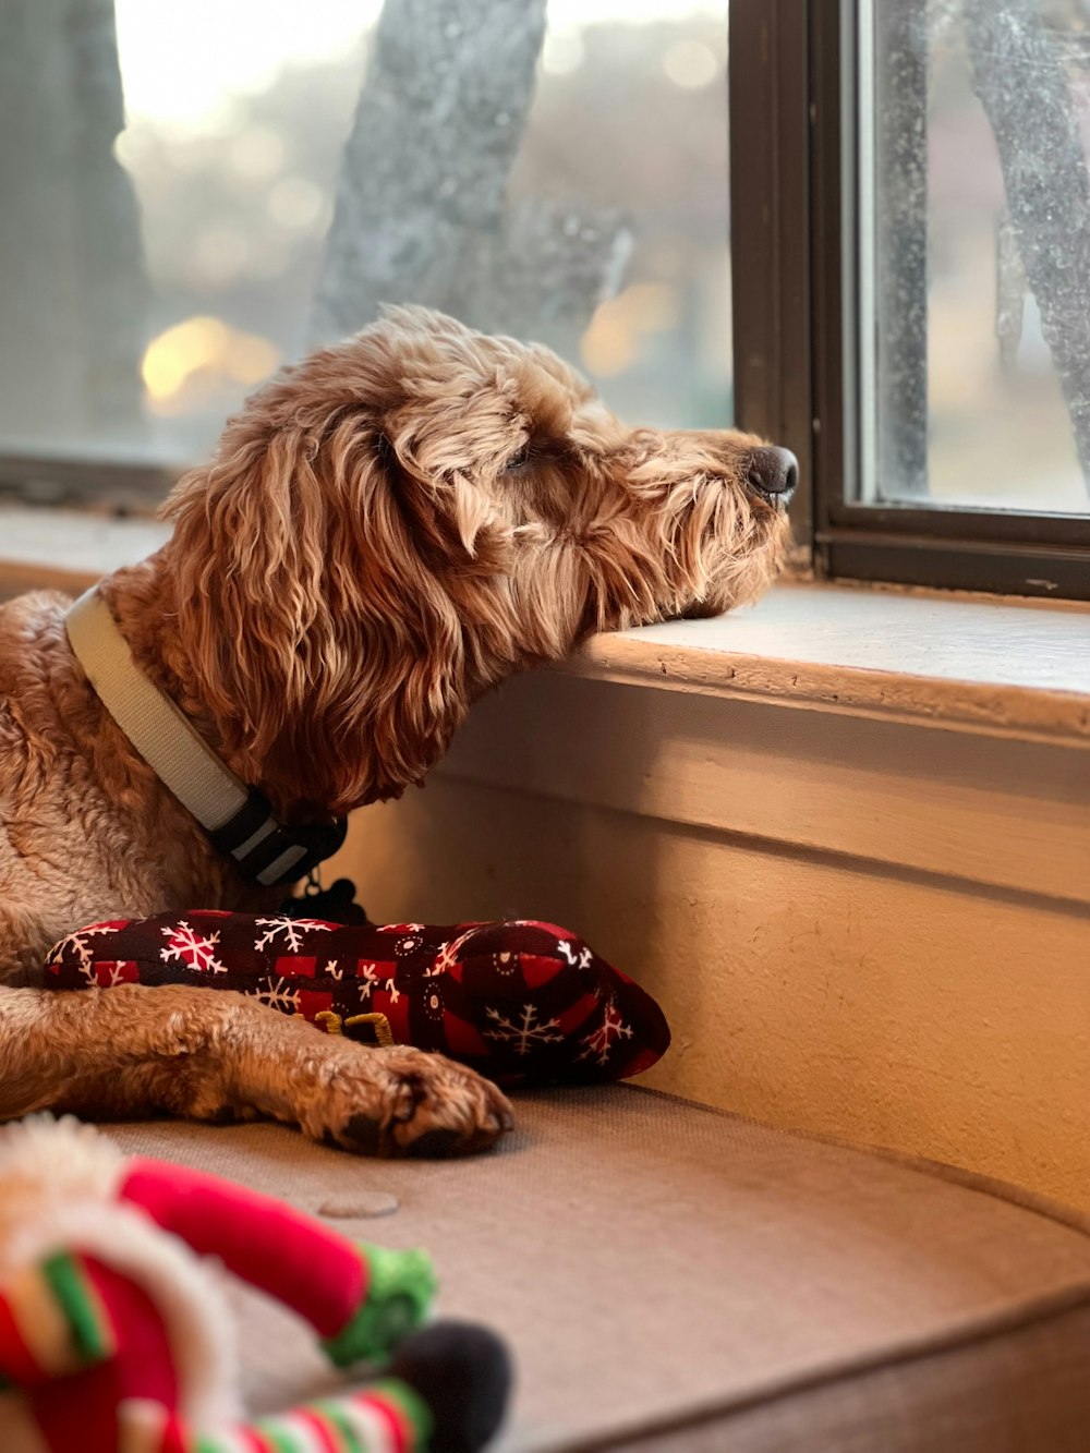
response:
<svg viewBox="0 0 1090 1453"><path fill-rule="evenodd" d="M1090 510L1090 4L860 7L862 500Z"/></svg>

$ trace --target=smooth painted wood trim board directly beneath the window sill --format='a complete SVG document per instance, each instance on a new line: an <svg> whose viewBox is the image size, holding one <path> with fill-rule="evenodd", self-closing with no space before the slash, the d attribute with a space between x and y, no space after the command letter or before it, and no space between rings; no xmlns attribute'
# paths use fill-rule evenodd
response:
<svg viewBox="0 0 1090 1453"><path fill-rule="evenodd" d="M641 686L516 679L474 708L436 770L953 891L1090 905L1086 751Z"/></svg>

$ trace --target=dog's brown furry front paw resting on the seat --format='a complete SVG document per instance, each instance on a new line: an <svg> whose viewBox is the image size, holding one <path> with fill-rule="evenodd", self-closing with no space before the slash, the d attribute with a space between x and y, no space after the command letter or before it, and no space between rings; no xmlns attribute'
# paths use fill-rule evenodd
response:
<svg viewBox="0 0 1090 1453"><path fill-rule="evenodd" d="M299 1126L359 1155L472 1155L513 1128L507 1097L465 1065L395 1045L333 1036L296 1075Z"/></svg>

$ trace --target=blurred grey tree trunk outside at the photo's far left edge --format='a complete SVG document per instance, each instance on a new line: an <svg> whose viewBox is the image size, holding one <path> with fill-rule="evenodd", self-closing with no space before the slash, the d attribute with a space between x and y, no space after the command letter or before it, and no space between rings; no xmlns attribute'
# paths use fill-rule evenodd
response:
<svg viewBox="0 0 1090 1453"><path fill-rule="evenodd" d="M9 437L132 443L147 283L113 0L0 13L0 410Z"/></svg>

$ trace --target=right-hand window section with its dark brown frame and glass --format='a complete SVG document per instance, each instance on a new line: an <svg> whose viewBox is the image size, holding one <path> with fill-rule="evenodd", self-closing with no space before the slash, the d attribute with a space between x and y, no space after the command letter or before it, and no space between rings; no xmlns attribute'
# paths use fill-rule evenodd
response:
<svg viewBox="0 0 1090 1453"><path fill-rule="evenodd" d="M833 9L810 29L811 176L837 190L811 254L818 562L1087 599L1090 7Z"/></svg>

